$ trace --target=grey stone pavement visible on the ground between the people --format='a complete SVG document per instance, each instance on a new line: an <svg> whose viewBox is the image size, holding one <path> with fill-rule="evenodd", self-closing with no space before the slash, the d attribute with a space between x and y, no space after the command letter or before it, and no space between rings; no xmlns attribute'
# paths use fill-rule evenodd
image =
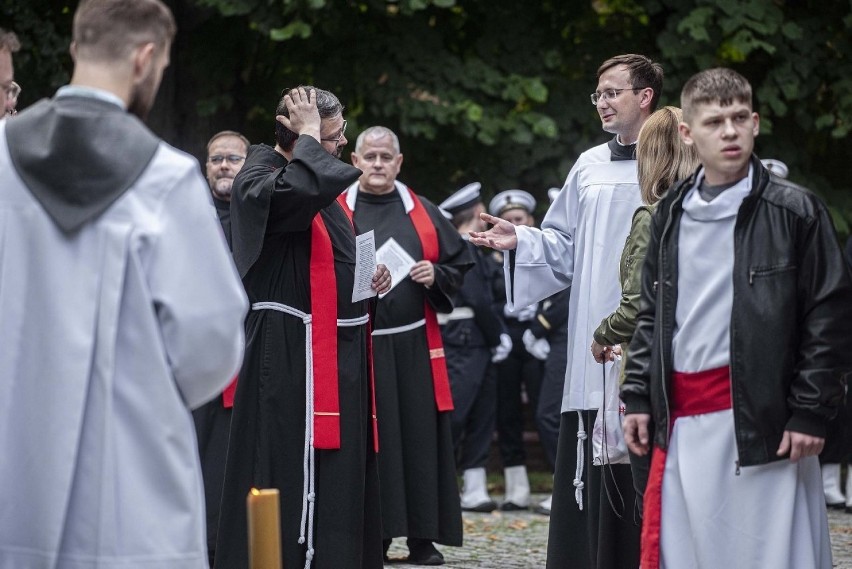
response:
<svg viewBox="0 0 852 569"><path fill-rule="evenodd" d="M544 496L535 496L534 502ZM532 512L464 514L464 547L438 546L446 569L540 569L547 555L549 518ZM834 567L852 569L852 514L830 510ZM391 559L408 554L404 539L394 540ZM386 564L388 569L411 569L406 563Z"/></svg>

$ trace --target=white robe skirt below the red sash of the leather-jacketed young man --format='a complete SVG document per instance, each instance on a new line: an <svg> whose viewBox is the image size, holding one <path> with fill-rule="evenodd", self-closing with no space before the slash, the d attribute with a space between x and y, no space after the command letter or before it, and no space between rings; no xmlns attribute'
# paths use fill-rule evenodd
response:
<svg viewBox="0 0 852 569"><path fill-rule="evenodd" d="M675 421L660 569L831 569L817 457L742 468L736 461L730 409Z"/></svg>

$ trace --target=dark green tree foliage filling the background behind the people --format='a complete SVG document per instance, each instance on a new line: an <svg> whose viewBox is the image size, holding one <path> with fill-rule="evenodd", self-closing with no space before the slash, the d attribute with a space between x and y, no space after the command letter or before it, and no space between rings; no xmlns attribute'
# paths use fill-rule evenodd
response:
<svg viewBox="0 0 852 569"><path fill-rule="evenodd" d="M26 95L67 80L76 2L0 0L21 34ZM272 138L283 87L315 84L347 105L354 137L401 137L402 178L434 200L469 181L546 200L576 156L607 138L588 93L607 57L644 53L666 70L662 104L710 66L752 82L758 153L823 194L842 233L852 198L850 0L172 0L179 34L152 116L198 155L224 128ZM7 22L8 19L8 22ZM33 99L24 98L24 102ZM542 209L544 206L542 205Z"/></svg>

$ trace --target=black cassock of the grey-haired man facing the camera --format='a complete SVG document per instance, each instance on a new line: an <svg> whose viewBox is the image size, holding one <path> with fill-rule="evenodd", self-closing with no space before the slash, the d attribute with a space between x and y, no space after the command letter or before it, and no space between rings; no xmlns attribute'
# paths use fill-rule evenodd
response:
<svg viewBox="0 0 852 569"><path fill-rule="evenodd" d="M404 326L424 317L424 299L437 312L451 312L451 297L473 258L437 207L420 198L438 234L440 256L430 289L406 278L378 302L376 330ZM355 225L375 231L376 248L393 237L415 261L420 239L397 191L358 192ZM451 412L435 403L426 328L373 337L379 471L384 537L407 536L461 545L462 521L456 481Z"/></svg>

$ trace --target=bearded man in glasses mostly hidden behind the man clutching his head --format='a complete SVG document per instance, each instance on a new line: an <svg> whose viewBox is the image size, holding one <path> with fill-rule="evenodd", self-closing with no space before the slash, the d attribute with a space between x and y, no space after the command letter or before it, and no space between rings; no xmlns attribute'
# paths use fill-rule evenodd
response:
<svg viewBox="0 0 852 569"><path fill-rule="evenodd" d="M231 186L234 183L234 177L243 167L250 145L246 137L233 130L217 132L207 142L205 177L210 186L216 215L219 217L219 224L222 226L229 249L231 247ZM225 481L225 455L228 452L234 388L236 383L232 382L225 393L192 412L195 433L198 437L201 475L204 479L207 553L211 567L216 556L216 531L219 527L222 483Z"/></svg>

